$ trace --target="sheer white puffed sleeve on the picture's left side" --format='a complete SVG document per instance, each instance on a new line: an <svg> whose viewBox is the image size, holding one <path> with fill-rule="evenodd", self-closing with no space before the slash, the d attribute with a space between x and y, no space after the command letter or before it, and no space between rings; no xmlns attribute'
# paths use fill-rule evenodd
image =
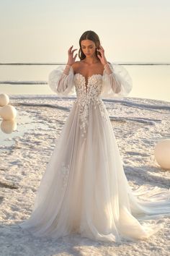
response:
<svg viewBox="0 0 170 256"><path fill-rule="evenodd" d="M51 90L58 94L58 96L76 95L74 85L73 67L70 68L68 74L64 74L63 70L66 66L58 66L48 75L48 85Z"/></svg>

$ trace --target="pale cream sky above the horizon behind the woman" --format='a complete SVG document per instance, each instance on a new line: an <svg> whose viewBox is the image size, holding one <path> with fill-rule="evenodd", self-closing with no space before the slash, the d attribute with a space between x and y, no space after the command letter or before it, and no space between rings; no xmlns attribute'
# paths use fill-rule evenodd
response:
<svg viewBox="0 0 170 256"><path fill-rule="evenodd" d="M169 25L169 0L0 0L0 62L67 61L86 30L108 61L170 62Z"/></svg>

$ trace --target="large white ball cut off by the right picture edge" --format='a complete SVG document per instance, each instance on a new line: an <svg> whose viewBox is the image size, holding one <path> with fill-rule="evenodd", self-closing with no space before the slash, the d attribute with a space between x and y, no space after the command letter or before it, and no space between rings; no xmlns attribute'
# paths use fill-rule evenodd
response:
<svg viewBox="0 0 170 256"><path fill-rule="evenodd" d="M170 139L159 141L156 144L154 154L159 166L170 169Z"/></svg>

